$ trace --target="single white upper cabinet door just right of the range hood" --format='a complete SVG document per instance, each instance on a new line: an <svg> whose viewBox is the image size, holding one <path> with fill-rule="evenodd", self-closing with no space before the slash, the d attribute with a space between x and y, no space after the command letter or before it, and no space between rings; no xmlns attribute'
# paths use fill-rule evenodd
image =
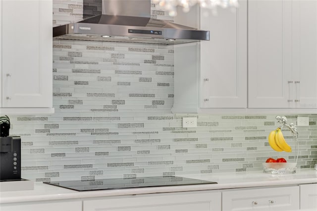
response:
<svg viewBox="0 0 317 211"><path fill-rule="evenodd" d="M200 107L247 107L247 1L216 15L202 8L200 28L211 34L200 45Z"/></svg>

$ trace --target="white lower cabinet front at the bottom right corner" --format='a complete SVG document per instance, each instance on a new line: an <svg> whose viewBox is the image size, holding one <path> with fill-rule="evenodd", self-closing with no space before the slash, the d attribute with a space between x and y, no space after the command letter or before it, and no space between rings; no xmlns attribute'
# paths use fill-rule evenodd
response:
<svg viewBox="0 0 317 211"><path fill-rule="evenodd" d="M317 184L300 185L301 210L317 210Z"/></svg>

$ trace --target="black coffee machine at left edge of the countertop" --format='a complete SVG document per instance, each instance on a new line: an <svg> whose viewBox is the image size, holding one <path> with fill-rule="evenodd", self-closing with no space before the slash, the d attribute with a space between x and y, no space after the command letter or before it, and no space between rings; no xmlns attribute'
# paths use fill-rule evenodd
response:
<svg viewBox="0 0 317 211"><path fill-rule="evenodd" d="M10 119L0 116L0 181L21 179L21 137L9 136Z"/></svg>

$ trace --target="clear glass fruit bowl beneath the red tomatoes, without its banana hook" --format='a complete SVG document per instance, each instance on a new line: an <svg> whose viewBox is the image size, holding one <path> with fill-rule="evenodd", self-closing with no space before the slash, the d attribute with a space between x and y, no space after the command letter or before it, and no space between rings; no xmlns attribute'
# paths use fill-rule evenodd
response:
<svg viewBox="0 0 317 211"><path fill-rule="evenodd" d="M262 165L267 174L294 174L297 162L264 162Z"/></svg>

